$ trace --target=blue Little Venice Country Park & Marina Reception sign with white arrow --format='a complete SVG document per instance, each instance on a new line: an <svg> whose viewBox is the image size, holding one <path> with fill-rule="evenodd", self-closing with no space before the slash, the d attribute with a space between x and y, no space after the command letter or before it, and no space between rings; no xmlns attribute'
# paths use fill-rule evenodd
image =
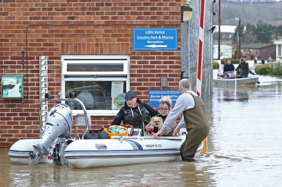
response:
<svg viewBox="0 0 282 187"><path fill-rule="evenodd" d="M177 28L133 28L132 38L136 51L177 50Z"/></svg>

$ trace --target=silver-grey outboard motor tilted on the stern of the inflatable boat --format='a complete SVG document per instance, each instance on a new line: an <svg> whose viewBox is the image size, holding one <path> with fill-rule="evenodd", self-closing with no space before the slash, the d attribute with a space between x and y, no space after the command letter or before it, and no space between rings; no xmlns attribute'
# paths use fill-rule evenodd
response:
<svg viewBox="0 0 282 187"><path fill-rule="evenodd" d="M45 129L42 140L37 145L33 145L34 150L29 152L30 166L35 166L43 155L49 155L49 146L59 136L70 138L70 131L73 127L73 114L66 104L57 104L51 108L46 115Z"/></svg>

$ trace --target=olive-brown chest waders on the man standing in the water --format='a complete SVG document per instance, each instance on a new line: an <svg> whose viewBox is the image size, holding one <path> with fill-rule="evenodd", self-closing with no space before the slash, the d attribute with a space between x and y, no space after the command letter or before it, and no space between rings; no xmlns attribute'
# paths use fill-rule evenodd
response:
<svg viewBox="0 0 282 187"><path fill-rule="evenodd" d="M183 111L185 127L188 133L179 148L182 160L187 162L194 160L199 145L209 134L209 121L204 102L200 97L191 95L194 98L195 107Z"/></svg>

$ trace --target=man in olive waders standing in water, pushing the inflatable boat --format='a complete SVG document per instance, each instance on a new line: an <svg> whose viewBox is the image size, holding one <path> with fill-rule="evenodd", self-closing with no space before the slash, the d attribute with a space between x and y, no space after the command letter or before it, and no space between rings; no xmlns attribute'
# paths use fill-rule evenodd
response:
<svg viewBox="0 0 282 187"><path fill-rule="evenodd" d="M209 134L209 122L204 102L201 97L191 90L188 79L180 80L179 90L181 95L178 97L174 108L167 115L160 131L153 136L161 136L164 129L183 113L181 121L173 131L173 135L179 134L180 129L185 125L188 133L179 150L182 160L189 162L194 161L199 145Z"/></svg>

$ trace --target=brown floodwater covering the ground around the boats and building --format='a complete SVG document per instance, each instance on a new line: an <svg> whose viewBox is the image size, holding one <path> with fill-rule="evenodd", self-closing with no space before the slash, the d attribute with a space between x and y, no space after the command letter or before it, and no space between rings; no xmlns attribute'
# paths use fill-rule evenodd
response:
<svg viewBox="0 0 282 187"><path fill-rule="evenodd" d="M207 152L194 163L158 162L75 169L12 164L1 149L0 186L282 186L282 79L214 87L205 106Z"/></svg>

